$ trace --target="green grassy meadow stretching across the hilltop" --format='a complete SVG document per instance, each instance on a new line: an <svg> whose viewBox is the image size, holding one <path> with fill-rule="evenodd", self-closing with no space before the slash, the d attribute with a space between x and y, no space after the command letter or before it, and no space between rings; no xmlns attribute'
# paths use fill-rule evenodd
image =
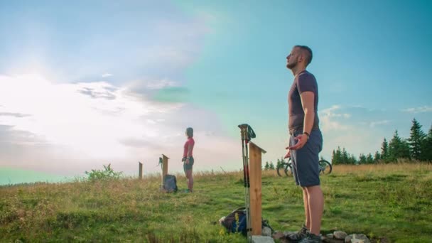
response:
<svg viewBox="0 0 432 243"><path fill-rule="evenodd" d="M428 242L432 166L335 166L321 176L323 234L363 233L375 242ZM242 173L199 173L194 193L161 193L160 178L0 187L0 242L244 242L214 222L244 205ZM262 215L276 230L304 221L300 188L262 177ZM178 175L180 190L185 178Z"/></svg>

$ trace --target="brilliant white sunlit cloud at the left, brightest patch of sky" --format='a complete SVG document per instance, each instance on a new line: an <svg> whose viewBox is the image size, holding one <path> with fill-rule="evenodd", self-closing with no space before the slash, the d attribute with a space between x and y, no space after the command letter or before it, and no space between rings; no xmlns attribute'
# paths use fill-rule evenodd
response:
<svg viewBox="0 0 432 243"><path fill-rule="evenodd" d="M28 131L55 146L66 146L83 156L124 156L118 143L124 137L157 136L141 117L163 114L183 104L161 104L139 99L105 82L54 84L37 75L1 76L0 124Z"/></svg>

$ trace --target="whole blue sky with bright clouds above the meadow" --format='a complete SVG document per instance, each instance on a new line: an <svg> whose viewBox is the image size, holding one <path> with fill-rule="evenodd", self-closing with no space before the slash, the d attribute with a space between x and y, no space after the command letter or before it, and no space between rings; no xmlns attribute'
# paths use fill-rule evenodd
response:
<svg viewBox="0 0 432 243"><path fill-rule="evenodd" d="M431 1L0 1L0 184L242 168L238 124L288 145L286 55L308 45L331 159L432 126Z"/></svg>

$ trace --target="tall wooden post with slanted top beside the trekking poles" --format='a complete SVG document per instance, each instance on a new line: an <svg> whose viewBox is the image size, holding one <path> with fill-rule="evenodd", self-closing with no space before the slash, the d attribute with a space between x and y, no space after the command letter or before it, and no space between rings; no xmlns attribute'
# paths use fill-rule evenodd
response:
<svg viewBox="0 0 432 243"><path fill-rule="evenodd" d="M261 153L264 149L249 142L249 198L252 235L261 235Z"/></svg>

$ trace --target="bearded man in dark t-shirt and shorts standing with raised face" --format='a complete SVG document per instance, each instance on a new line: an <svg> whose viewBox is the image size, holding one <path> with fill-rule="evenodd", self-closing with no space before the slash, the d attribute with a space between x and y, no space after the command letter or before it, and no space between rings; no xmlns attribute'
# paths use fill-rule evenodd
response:
<svg viewBox="0 0 432 243"><path fill-rule="evenodd" d="M286 57L286 68L294 75L288 92L288 153L293 162L293 176L303 190L305 225L287 237L295 242L322 242L320 237L324 198L320 188L318 153L323 148L323 136L318 123L318 85L315 77L306 70L311 63L312 50L306 45L296 45Z"/></svg>

